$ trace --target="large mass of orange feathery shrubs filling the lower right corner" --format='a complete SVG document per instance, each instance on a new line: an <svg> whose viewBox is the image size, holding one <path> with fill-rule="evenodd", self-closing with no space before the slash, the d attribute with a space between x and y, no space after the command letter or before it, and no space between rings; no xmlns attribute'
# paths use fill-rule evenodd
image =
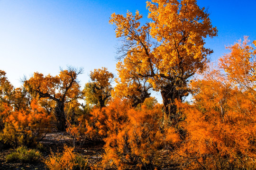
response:
<svg viewBox="0 0 256 170"><path fill-rule="evenodd" d="M180 103L187 136L178 151L187 170L256 169L256 102L217 79L194 83L194 104Z"/></svg>

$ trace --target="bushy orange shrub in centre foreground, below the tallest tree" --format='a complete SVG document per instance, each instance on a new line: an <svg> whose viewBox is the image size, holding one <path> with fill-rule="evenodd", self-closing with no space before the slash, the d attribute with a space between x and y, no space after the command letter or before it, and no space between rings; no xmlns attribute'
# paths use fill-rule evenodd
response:
<svg viewBox="0 0 256 170"><path fill-rule="evenodd" d="M161 149L178 142L174 128L163 124L162 105L153 108L142 105L140 109L125 109L118 105L107 107L103 163L111 162L120 170L135 166L154 169L158 166ZM134 167L134 168L135 168Z"/></svg>

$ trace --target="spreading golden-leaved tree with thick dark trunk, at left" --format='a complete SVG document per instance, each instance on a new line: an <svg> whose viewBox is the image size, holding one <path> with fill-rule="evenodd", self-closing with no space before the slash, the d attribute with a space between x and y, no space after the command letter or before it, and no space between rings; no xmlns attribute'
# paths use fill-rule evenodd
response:
<svg viewBox="0 0 256 170"><path fill-rule="evenodd" d="M77 76L81 73L82 68L77 70L69 67L67 70L61 70L57 76L34 73L32 77L24 81L24 86L34 96L55 101L56 127L60 131L66 128L65 102L68 99L77 98L80 94Z"/></svg>

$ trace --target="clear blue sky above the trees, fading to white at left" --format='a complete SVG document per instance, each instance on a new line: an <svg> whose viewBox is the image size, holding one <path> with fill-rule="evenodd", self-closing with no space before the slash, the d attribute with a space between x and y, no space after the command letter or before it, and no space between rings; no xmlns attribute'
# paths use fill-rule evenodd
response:
<svg viewBox="0 0 256 170"><path fill-rule="evenodd" d="M208 8L218 37L206 40L216 60L230 45L248 35L256 40L256 0L198 0ZM16 87L23 75L56 75L67 65L84 68L81 85L94 68L115 71L113 12L139 10L147 19L144 0L0 0L0 69Z"/></svg>

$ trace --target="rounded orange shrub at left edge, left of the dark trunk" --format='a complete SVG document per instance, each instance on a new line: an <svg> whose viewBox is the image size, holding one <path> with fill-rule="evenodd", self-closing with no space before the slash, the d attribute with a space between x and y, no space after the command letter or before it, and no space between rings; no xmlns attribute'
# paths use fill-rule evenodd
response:
<svg viewBox="0 0 256 170"><path fill-rule="evenodd" d="M6 107L0 115L4 123L0 139L13 146L35 144L51 127L52 116L46 113L36 100L31 102L30 108L12 110Z"/></svg>

